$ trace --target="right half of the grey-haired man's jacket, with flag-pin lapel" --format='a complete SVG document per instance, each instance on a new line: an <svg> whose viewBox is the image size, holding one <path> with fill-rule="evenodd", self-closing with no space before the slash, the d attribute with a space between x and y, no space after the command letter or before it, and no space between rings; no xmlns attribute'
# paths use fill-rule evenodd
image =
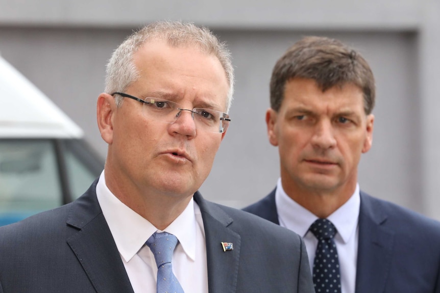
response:
<svg viewBox="0 0 440 293"><path fill-rule="evenodd" d="M209 292L314 293L299 235L248 212L206 201L199 193L194 199L205 226ZM224 251L222 242L233 243L233 250Z"/></svg>

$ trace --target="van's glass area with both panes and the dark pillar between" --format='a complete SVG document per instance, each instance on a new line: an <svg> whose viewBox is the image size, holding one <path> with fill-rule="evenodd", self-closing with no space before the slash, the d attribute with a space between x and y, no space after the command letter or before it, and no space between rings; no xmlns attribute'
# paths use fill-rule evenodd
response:
<svg viewBox="0 0 440 293"><path fill-rule="evenodd" d="M0 226L77 199L103 168L81 139L0 139Z"/></svg>

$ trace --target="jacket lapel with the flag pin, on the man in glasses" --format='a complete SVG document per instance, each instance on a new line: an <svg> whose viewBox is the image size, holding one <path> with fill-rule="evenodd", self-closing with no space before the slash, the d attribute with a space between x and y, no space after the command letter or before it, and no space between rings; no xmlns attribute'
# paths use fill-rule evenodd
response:
<svg viewBox="0 0 440 293"><path fill-rule="evenodd" d="M200 207L205 227L209 293L234 293L237 286L240 257L240 235L228 228L233 222L217 205L205 201L199 192L194 200ZM233 244L233 250L223 250L222 242Z"/></svg>

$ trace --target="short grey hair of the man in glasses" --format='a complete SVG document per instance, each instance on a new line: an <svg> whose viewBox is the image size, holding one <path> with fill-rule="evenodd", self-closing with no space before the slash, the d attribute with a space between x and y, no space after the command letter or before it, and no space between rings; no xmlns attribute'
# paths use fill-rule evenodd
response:
<svg viewBox="0 0 440 293"><path fill-rule="evenodd" d="M113 52L107 63L106 93L124 92L131 83L139 78L133 55L143 44L150 40L163 40L172 47L196 46L207 55L217 57L225 70L229 84L226 104L227 112L229 112L234 93L234 69L231 63L230 51L226 44L220 42L209 29L199 28L192 22L157 21L130 35ZM115 101L116 105L120 106L122 97L117 95Z"/></svg>

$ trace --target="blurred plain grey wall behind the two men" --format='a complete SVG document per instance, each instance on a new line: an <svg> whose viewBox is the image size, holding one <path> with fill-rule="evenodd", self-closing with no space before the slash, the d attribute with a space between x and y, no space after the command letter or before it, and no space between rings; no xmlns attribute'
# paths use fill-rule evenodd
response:
<svg viewBox="0 0 440 293"><path fill-rule="evenodd" d="M374 142L361 159L360 188L440 219L438 0L0 0L0 55L105 158L95 105L107 60L132 31L165 19L208 26L233 56L232 122L205 198L241 208L275 187L278 150L264 122L272 68L288 46L319 35L358 49L375 73Z"/></svg>

